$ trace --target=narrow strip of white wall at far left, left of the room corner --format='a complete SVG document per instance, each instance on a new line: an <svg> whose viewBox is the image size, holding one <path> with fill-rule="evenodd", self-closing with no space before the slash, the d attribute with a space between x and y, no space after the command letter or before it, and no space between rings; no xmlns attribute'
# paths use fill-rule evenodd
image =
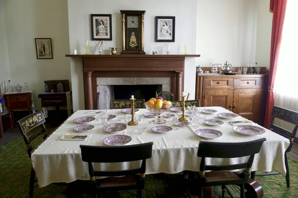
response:
<svg viewBox="0 0 298 198"><path fill-rule="evenodd" d="M7 37L4 15L4 1L0 0L0 86L2 94L5 93L6 82L10 80L8 60Z"/></svg>

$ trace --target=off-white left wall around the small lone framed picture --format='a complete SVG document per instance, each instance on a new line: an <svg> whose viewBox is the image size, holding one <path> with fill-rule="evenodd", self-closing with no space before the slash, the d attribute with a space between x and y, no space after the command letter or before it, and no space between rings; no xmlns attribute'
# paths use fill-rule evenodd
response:
<svg viewBox="0 0 298 198"><path fill-rule="evenodd" d="M67 1L4 0L4 11L12 86L26 82L41 109L43 81L71 81ZM34 38L52 39L53 59L36 58Z"/></svg>

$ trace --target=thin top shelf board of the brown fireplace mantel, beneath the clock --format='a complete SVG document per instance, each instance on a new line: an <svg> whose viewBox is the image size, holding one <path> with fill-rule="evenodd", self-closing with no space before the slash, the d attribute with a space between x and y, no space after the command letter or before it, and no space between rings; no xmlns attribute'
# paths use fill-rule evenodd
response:
<svg viewBox="0 0 298 198"><path fill-rule="evenodd" d="M113 57L150 57L150 58L166 58L166 57L200 57L201 55L200 54L169 54L169 55L166 55L166 54L156 54L156 55L151 55L151 54L116 54L116 55L96 55L96 54L89 54L89 55L86 55L86 54L66 54L65 55L66 57L92 57L92 58L113 58Z"/></svg>

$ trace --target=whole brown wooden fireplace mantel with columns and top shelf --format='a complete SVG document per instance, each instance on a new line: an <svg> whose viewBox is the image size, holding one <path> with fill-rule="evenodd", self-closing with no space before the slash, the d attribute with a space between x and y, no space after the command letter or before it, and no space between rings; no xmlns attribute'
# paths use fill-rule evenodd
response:
<svg viewBox="0 0 298 198"><path fill-rule="evenodd" d="M174 100L178 100L184 87L185 57L200 55L67 54L66 57L82 59L85 109L93 109L97 108L96 78L100 77L170 77Z"/></svg>

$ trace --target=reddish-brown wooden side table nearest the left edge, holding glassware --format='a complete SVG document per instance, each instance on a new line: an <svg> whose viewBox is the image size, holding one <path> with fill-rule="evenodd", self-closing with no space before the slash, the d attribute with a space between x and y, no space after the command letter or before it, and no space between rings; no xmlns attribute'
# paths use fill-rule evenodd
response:
<svg viewBox="0 0 298 198"><path fill-rule="evenodd" d="M13 132L14 126L14 118L13 118L13 111L14 110L23 110L28 109L29 114L32 113L31 106L31 92L24 92L24 93L5 93L4 99L6 101L9 118L11 121L11 132Z"/></svg>

